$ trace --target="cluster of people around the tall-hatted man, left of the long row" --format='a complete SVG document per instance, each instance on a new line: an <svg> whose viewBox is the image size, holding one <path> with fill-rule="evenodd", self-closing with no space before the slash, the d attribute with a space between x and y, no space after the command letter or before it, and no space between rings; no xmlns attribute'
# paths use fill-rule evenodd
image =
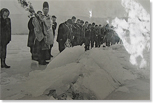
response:
<svg viewBox="0 0 153 103"><path fill-rule="evenodd" d="M48 2L43 3L43 12L37 11L28 22L29 36L28 44L32 54L32 60L40 65L46 65L52 56L51 49L54 44L56 30L56 16L50 16ZM33 15L33 14L32 14Z"/></svg>

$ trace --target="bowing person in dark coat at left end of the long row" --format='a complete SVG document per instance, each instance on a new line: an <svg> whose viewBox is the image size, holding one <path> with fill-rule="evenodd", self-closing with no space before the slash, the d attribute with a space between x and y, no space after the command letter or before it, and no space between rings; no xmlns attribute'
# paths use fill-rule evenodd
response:
<svg viewBox="0 0 153 103"><path fill-rule="evenodd" d="M58 28L57 42L59 51L62 52L65 49L65 43L67 39L72 39L71 28L72 20L68 19L66 22L61 23Z"/></svg>

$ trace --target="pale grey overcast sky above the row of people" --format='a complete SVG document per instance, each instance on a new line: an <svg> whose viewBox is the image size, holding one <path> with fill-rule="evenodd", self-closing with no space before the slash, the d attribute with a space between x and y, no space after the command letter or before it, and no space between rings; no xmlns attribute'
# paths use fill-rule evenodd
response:
<svg viewBox="0 0 153 103"><path fill-rule="evenodd" d="M57 18L63 16L83 16L89 17L89 11L92 11L93 17L123 17L126 12L121 5L121 0L27 0L30 1L35 11L42 10L44 1L48 1L50 6L50 15L56 15ZM136 0L139 2L149 13L150 12L150 1L149 0ZM13 32L19 31L18 27L25 32L27 29L28 18L27 12L20 6L18 0L0 0L1 8L8 8L11 12ZM18 14L14 16L14 14ZM23 15L21 15L23 14ZM60 18L61 20L61 18ZM60 21L59 20L59 21ZM20 22L17 23L17 22ZM61 22L61 21L60 21ZM26 23L26 24L25 24ZM26 26L25 26L26 25Z"/></svg>

